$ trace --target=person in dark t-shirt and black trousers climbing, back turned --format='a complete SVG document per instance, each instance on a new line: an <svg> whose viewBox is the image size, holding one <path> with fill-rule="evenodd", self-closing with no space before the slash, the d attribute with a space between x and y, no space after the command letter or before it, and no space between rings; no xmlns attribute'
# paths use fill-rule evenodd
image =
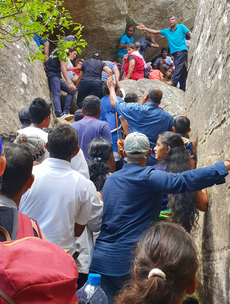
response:
<svg viewBox="0 0 230 304"><path fill-rule="evenodd" d="M101 61L100 52L91 55L90 59L83 62L76 82L78 88L77 105L82 109L82 101L88 95L100 98L101 95L101 73L105 71L109 77L113 76L110 68Z"/></svg>

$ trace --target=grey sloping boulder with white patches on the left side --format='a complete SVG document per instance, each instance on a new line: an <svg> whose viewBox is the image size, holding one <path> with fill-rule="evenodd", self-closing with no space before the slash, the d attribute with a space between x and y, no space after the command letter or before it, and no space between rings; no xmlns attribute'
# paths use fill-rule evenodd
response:
<svg viewBox="0 0 230 304"><path fill-rule="evenodd" d="M31 46L36 48L34 41ZM37 49L38 50L38 49ZM22 43L5 43L0 52L0 133L17 131L21 123L18 112L34 98L52 100L47 77L40 61L28 62L29 50ZM64 119L61 119L63 121ZM59 124L52 107L50 126Z"/></svg>

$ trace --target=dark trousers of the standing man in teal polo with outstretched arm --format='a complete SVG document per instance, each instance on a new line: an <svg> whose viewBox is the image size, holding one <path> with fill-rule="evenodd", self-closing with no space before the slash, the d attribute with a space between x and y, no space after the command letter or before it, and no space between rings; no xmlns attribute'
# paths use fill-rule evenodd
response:
<svg viewBox="0 0 230 304"><path fill-rule="evenodd" d="M184 65L185 57L187 50L180 50L173 53L175 71L173 73L172 82L177 86L178 82L180 83L180 89L185 91L186 86L186 67Z"/></svg>

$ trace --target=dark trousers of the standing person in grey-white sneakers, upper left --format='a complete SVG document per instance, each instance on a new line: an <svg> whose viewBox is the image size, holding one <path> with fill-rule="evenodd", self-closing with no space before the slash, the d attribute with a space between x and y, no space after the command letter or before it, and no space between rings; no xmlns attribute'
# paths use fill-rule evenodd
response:
<svg viewBox="0 0 230 304"><path fill-rule="evenodd" d="M64 91L67 93L66 98L65 98L64 109L63 109L64 112L69 112L71 100L73 98L74 93L69 92L68 85L64 81L62 81L59 77L48 75L47 78L48 78L50 89L53 93L53 103L54 103L55 114L57 117L61 117L62 116L61 91Z"/></svg>

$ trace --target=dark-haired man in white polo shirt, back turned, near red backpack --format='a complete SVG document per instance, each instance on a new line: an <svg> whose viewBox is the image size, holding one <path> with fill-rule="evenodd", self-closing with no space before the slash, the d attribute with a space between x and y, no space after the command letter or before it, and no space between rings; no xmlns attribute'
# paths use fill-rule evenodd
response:
<svg viewBox="0 0 230 304"><path fill-rule="evenodd" d="M77 131L65 124L55 126L47 150L50 158L33 167L34 183L19 211L36 219L48 241L70 249L76 259L74 237L80 237L91 212L89 182L70 165L79 151Z"/></svg>

